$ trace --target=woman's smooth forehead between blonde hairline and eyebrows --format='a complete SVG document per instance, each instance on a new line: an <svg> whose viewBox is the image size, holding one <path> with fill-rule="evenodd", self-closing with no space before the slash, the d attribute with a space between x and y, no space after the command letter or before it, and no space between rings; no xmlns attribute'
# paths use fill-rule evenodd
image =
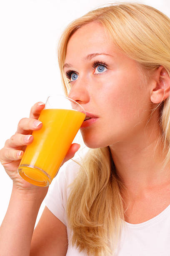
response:
<svg viewBox="0 0 170 256"><path fill-rule="evenodd" d="M82 26L71 36L67 44L65 64L80 64L87 60L89 54L94 53L108 54L116 64L125 67L138 66L140 69L140 65L135 60L130 59L114 44L110 33L102 24L92 22Z"/></svg>

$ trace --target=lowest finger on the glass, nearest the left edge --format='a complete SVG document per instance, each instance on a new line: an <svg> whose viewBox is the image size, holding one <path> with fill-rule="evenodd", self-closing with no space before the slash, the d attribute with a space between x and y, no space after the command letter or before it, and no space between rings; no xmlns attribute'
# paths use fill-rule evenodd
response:
<svg viewBox="0 0 170 256"><path fill-rule="evenodd" d="M13 148L2 148L0 150L0 162L2 165L9 164L11 161L21 159L23 156L23 153L24 153L23 151L15 150Z"/></svg>

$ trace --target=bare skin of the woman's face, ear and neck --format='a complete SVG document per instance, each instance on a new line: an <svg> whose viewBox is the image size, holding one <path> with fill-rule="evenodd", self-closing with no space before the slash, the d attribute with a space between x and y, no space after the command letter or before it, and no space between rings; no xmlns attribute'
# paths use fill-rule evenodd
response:
<svg viewBox="0 0 170 256"><path fill-rule="evenodd" d="M109 55L84 59L94 53ZM93 61L105 61L108 67L96 74ZM89 23L71 36L65 63L72 67L64 67L64 72L77 74L68 97L99 117L80 128L83 141L89 148L110 147L117 174L127 187L122 194L125 209L129 207L125 220L140 223L153 218L170 204L169 166L161 172L163 147L155 149L159 111L150 118L153 106L169 96L167 71L160 66L142 84L140 65L117 49L99 23Z"/></svg>

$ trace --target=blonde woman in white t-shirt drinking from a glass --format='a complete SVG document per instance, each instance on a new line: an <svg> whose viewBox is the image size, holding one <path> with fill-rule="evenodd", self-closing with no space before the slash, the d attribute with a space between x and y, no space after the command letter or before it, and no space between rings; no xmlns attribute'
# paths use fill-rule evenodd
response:
<svg viewBox="0 0 170 256"><path fill-rule="evenodd" d="M44 105L20 120L0 151L13 179L0 255L170 254L169 31L166 15L137 3L93 10L65 29L58 47L63 86L96 118L80 128L90 149L62 166L47 194L17 174ZM63 163L77 150L72 144Z"/></svg>

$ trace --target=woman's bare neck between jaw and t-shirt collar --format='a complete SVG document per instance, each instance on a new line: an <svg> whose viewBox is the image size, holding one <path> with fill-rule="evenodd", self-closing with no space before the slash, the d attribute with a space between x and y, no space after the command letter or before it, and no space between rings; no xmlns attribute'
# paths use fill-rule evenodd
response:
<svg viewBox="0 0 170 256"><path fill-rule="evenodd" d="M152 126L110 145L116 173L132 195L170 182L170 168L162 168L165 155L160 141L160 129Z"/></svg>

